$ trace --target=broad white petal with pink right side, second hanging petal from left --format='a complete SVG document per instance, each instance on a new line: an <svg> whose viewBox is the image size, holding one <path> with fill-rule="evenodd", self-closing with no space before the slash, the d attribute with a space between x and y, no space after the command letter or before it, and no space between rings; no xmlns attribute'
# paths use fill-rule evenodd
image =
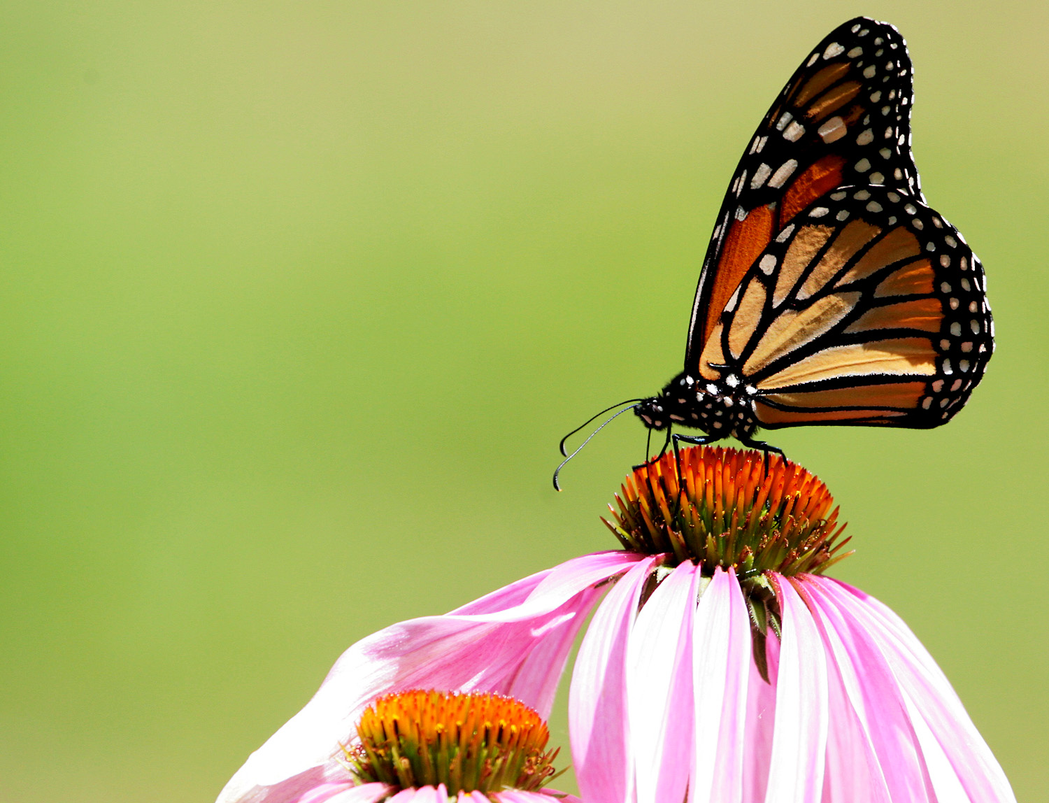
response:
<svg viewBox="0 0 1049 803"><path fill-rule="evenodd" d="M695 565L679 565L647 599L627 647L626 699L638 803L685 798L692 748Z"/></svg>

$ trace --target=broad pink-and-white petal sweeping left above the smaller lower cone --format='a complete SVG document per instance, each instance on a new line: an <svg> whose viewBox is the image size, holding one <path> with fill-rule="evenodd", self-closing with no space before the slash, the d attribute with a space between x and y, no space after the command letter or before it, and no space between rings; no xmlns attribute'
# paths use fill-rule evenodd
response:
<svg viewBox="0 0 1049 803"><path fill-rule="evenodd" d="M597 598L593 586L639 559L622 551L584 555L451 614L409 619L358 641L305 707L252 754L218 803L287 803L343 780L333 757L381 694L418 688L513 694L548 717L572 638Z"/></svg>

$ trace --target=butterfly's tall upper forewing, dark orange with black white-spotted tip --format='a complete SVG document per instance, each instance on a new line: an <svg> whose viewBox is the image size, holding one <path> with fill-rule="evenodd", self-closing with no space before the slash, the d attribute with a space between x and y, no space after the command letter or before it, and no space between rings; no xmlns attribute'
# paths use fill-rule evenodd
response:
<svg viewBox="0 0 1049 803"><path fill-rule="evenodd" d="M887 23L850 20L806 58L751 138L722 203L700 273L686 365L775 233L816 198L852 184L921 198L912 101L906 42Z"/></svg>

